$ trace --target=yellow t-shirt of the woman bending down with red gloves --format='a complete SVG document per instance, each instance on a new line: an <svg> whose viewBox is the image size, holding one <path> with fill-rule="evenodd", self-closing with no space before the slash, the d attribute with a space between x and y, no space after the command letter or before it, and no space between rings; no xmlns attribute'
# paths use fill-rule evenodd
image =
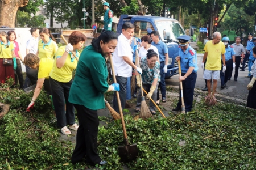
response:
<svg viewBox="0 0 256 170"><path fill-rule="evenodd" d="M52 70L53 62L54 60L49 58L40 59L39 69L38 69L38 79L41 79L41 78L49 79L49 73Z"/></svg>

